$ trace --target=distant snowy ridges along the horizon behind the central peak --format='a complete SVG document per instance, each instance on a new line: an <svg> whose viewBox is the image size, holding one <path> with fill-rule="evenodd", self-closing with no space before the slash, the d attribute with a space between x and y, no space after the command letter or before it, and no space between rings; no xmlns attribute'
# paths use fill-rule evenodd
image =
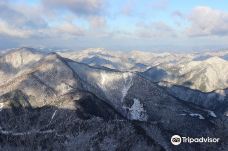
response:
<svg viewBox="0 0 228 151"><path fill-rule="evenodd" d="M103 66L120 71L145 71L150 66L189 60L190 56L171 53L150 53L142 51L119 52L102 48L83 51L59 52L63 57L91 66Z"/></svg>

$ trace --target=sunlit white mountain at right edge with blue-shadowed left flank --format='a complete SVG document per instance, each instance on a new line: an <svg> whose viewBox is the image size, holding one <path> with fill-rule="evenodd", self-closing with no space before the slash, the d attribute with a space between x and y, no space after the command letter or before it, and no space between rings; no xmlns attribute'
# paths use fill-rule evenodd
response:
<svg viewBox="0 0 228 151"><path fill-rule="evenodd" d="M144 75L153 81L167 81L203 92L228 87L228 62L219 57L175 65L152 67Z"/></svg>

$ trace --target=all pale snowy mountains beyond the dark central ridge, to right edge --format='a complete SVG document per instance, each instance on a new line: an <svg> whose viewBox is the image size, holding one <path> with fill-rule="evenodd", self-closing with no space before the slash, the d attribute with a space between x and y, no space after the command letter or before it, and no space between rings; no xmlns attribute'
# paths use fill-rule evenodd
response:
<svg viewBox="0 0 228 151"><path fill-rule="evenodd" d="M203 92L227 88L228 51L201 53L115 52L105 49L59 52L95 67L144 72L152 81L167 81Z"/></svg>

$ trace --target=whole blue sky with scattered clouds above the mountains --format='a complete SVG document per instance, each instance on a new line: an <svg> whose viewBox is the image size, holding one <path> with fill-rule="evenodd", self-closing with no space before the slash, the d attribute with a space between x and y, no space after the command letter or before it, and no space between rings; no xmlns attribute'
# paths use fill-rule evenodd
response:
<svg viewBox="0 0 228 151"><path fill-rule="evenodd" d="M0 50L223 50L227 6L227 0L1 0Z"/></svg>

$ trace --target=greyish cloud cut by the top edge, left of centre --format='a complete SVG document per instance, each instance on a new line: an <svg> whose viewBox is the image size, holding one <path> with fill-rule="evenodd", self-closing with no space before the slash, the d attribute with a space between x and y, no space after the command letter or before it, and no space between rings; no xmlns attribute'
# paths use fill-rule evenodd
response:
<svg viewBox="0 0 228 151"><path fill-rule="evenodd" d="M50 8L66 9L78 16L99 15L104 8L104 0L42 0Z"/></svg>

